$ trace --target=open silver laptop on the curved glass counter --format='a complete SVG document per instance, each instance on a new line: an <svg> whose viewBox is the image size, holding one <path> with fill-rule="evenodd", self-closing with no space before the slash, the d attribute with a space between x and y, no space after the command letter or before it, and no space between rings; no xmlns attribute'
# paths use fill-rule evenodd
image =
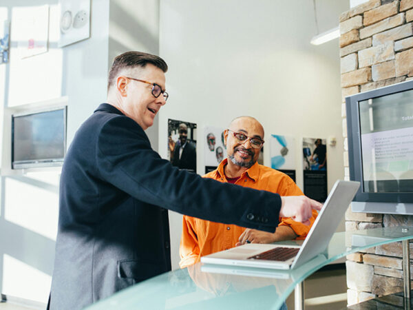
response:
<svg viewBox="0 0 413 310"><path fill-rule="evenodd" d="M271 269L298 267L328 247L359 185L359 182L337 180L301 247L250 243L203 256L201 262Z"/></svg>

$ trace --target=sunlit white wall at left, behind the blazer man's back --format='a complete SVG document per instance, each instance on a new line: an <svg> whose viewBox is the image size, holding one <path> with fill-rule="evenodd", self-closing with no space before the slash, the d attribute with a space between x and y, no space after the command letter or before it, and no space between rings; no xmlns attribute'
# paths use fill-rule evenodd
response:
<svg viewBox="0 0 413 310"><path fill-rule="evenodd" d="M55 0L3 0L0 12L13 25L21 8L50 5L49 50L21 59L10 42L10 63L0 65L1 112L34 101L67 96L67 144L77 128L106 99L109 0L92 1L91 38L57 48L59 13ZM2 16L3 14L2 14ZM1 113L3 114L3 113ZM2 126L1 126L2 127ZM8 134L8 132L5 132ZM3 147L10 152L10 147ZM1 177L0 291L47 302L59 211L59 172Z"/></svg>

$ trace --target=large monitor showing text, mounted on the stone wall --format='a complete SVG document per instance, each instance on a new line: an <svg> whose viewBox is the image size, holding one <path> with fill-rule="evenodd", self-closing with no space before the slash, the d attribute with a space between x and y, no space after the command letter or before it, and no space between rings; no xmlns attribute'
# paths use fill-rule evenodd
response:
<svg viewBox="0 0 413 310"><path fill-rule="evenodd" d="M346 112L353 211L413 214L413 81L349 96Z"/></svg>

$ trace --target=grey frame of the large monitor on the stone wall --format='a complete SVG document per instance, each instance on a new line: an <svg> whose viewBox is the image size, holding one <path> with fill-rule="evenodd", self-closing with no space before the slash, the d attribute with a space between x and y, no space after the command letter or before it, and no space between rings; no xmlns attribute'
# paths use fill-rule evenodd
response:
<svg viewBox="0 0 413 310"><path fill-rule="evenodd" d="M374 203L413 203L413 192L363 192L363 167L361 157L359 102L388 96L399 92L405 92L407 90L413 90L413 81L405 81L346 97L348 164L350 180L357 180L361 184L357 194L354 196L353 201Z"/></svg>

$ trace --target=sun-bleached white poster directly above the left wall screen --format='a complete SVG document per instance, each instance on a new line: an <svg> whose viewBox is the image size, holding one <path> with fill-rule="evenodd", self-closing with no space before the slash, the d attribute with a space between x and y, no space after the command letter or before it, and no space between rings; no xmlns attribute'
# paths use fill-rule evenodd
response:
<svg viewBox="0 0 413 310"><path fill-rule="evenodd" d="M21 58L47 52L49 40L49 6L16 8L12 25L12 42L17 42Z"/></svg>

